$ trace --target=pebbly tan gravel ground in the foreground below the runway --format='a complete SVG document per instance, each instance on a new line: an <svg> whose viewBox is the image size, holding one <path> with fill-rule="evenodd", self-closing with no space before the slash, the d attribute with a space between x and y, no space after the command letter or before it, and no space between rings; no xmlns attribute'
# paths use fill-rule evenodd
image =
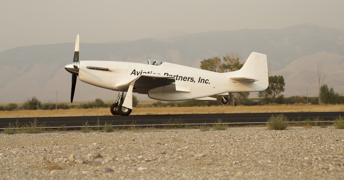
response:
<svg viewBox="0 0 344 180"><path fill-rule="evenodd" d="M344 179L344 130L0 134L1 179Z"/></svg>

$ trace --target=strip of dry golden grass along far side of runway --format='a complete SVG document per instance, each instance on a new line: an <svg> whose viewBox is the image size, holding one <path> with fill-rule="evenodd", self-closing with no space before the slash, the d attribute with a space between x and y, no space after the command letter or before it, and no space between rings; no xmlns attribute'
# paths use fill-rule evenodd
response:
<svg viewBox="0 0 344 180"><path fill-rule="evenodd" d="M134 108L131 115L155 114L214 114L214 113L287 113L287 112L344 112L344 105L266 105L266 106L210 106L210 107L152 107ZM106 116L109 108L17 110L1 111L0 118Z"/></svg>

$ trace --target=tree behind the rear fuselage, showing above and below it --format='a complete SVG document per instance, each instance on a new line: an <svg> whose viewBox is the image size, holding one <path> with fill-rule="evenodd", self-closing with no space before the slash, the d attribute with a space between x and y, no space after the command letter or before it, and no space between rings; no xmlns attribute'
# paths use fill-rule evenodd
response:
<svg viewBox="0 0 344 180"><path fill-rule="evenodd" d="M240 58L238 53L231 53L224 56L222 59L220 57L213 57L210 59L204 59L201 61L201 69L207 71L214 71L218 73L237 71L243 67L243 63L240 63ZM236 99L237 104L243 104L246 102L247 97L250 93L232 93L228 97L229 103L233 104L233 96Z"/></svg>

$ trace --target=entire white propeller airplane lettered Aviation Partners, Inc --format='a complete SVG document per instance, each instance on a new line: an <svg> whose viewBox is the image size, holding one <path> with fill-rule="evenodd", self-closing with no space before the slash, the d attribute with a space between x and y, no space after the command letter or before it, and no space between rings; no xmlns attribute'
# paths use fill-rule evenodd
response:
<svg viewBox="0 0 344 180"><path fill-rule="evenodd" d="M79 61L79 34L76 36L72 63L65 66L72 73L73 103L76 76L94 86L119 91L110 110L113 115L127 116L132 110L132 93L147 94L149 98L165 101L216 101L211 95L263 91L268 85L265 54L252 52L244 66L227 73L217 73L157 60L142 63L117 61ZM123 98L123 92L127 92Z"/></svg>

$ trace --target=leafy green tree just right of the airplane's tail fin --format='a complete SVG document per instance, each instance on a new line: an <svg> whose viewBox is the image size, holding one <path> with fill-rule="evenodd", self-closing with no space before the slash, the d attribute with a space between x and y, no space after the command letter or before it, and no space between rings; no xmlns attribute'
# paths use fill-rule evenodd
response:
<svg viewBox="0 0 344 180"><path fill-rule="evenodd" d="M279 103L282 103L282 92L284 92L284 78L283 76L269 76L269 86L264 91L258 93L259 97L263 97L263 103L268 104L270 102L276 102L276 97L279 99Z"/></svg>

